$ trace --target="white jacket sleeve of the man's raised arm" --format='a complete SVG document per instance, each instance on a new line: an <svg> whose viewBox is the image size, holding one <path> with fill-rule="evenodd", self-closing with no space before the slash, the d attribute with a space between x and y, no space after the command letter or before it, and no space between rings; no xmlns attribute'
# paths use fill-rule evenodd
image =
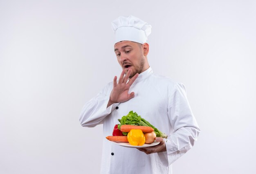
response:
<svg viewBox="0 0 256 174"><path fill-rule="evenodd" d="M96 97L92 98L83 106L79 119L81 126L95 127L98 124L103 123L103 119L119 104L112 104L107 108L111 91L112 83L109 83Z"/></svg>

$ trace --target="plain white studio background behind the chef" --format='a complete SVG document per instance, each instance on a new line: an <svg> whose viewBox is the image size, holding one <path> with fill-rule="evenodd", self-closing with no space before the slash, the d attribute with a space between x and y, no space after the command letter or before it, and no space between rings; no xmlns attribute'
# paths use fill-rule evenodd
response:
<svg viewBox="0 0 256 174"><path fill-rule="evenodd" d="M86 101L121 73L111 22L153 26L153 71L181 81L202 130L174 174L254 174L254 0L0 0L0 173L99 173ZM153 123L152 123L153 124Z"/></svg>

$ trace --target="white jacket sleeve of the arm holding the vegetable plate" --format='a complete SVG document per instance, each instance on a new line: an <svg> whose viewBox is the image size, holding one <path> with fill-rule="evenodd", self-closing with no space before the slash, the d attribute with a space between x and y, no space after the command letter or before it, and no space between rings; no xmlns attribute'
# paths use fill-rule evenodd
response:
<svg viewBox="0 0 256 174"><path fill-rule="evenodd" d="M176 84L168 94L168 117L172 132L166 141L166 152L158 153L161 162L171 165L190 150L197 141L200 128L193 116L183 84Z"/></svg>

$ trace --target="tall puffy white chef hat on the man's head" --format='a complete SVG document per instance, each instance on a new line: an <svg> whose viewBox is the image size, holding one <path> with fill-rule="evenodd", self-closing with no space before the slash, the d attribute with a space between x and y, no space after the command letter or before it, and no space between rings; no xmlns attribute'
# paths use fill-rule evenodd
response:
<svg viewBox="0 0 256 174"><path fill-rule="evenodd" d="M151 33L152 26L135 16L120 16L112 22L115 43L128 40L144 44Z"/></svg>

